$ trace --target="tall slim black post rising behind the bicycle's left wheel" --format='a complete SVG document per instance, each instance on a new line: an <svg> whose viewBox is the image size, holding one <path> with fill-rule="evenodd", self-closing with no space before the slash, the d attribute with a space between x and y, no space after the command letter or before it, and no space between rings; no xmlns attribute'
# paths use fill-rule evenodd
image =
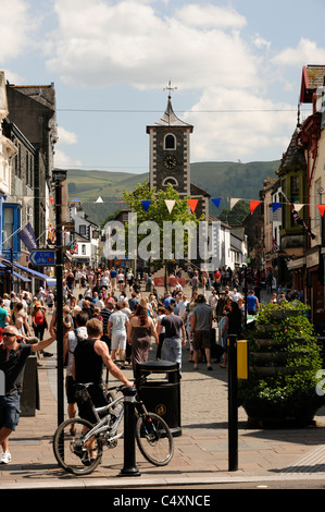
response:
<svg viewBox="0 0 325 512"><path fill-rule="evenodd" d="M55 187L58 425L60 425L64 420L62 182L66 180L66 171L53 170L52 179Z"/></svg>

